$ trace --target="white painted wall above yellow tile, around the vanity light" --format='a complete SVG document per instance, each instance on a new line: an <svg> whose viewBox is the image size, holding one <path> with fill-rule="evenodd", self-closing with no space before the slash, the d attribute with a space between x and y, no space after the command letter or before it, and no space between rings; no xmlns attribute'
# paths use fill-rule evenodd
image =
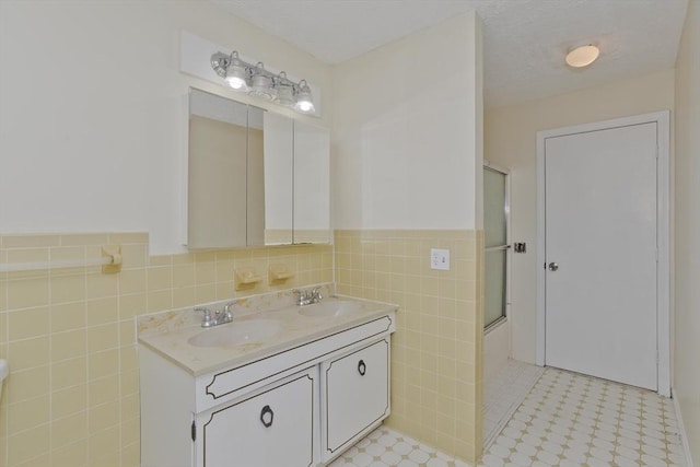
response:
<svg viewBox="0 0 700 467"><path fill-rule="evenodd" d="M208 1L0 1L0 231L182 249L188 86L228 91L178 71L180 30L330 92L329 67Z"/></svg>

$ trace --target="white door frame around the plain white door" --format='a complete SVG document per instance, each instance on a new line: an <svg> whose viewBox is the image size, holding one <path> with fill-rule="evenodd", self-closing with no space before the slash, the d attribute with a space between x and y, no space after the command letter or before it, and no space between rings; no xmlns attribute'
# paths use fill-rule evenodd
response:
<svg viewBox="0 0 700 467"><path fill-rule="evenodd" d="M537 347L536 363L545 365L546 238L545 142L548 138L599 131L632 125L656 124L656 349L658 394L670 397L670 112L615 118L537 132Z"/></svg>

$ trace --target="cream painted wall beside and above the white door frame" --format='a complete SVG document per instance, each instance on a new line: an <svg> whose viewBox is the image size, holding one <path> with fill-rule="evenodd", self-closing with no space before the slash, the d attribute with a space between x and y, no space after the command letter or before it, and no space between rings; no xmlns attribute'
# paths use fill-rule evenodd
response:
<svg viewBox="0 0 700 467"><path fill-rule="evenodd" d="M674 107L674 70L530 103L487 109L485 157L511 170L511 238L526 242L512 256L513 358L535 362L537 301L537 131Z"/></svg>

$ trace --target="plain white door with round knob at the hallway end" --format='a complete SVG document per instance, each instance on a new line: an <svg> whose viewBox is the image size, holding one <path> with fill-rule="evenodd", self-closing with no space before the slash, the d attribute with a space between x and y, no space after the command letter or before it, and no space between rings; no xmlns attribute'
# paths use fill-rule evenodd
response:
<svg viewBox="0 0 700 467"><path fill-rule="evenodd" d="M657 122L544 150L545 363L656 390Z"/></svg>

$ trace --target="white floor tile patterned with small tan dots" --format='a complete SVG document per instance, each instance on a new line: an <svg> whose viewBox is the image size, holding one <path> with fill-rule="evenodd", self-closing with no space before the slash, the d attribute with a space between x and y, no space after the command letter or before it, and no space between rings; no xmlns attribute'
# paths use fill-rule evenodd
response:
<svg viewBox="0 0 700 467"><path fill-rule="evenodd" d="M330 467L466 467L381 427ZM479 467L686 467L670 399L546 369Z"/></svg>

